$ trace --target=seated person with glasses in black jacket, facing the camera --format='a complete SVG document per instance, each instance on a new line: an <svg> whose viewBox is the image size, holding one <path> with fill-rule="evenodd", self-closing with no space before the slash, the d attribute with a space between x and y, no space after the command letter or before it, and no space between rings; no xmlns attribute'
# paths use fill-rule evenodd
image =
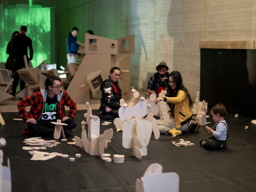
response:
<svg viewBox="0 0 256 192"><path fill-rule="evenodd" d="M109 72L109 79L106 79L101 85L102 96L100 99L100 117L102 119L113 120L118 116L118 109L121 107L119 100L122 98L122 90L118 86L118 79L121 70L113 67Z"/></svg>

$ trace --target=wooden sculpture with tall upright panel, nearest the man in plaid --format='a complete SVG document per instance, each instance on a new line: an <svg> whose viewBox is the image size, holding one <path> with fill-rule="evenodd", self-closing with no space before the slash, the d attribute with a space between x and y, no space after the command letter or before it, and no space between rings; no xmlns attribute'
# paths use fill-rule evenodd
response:
<svg viewBox="0 0 256 192"><path fill-rule="evenodd" d="M92 115L92 109L90 108L89 102L86 102L87 113L84 114L86 122L88 124L88 136L86 135L85 122L82 124L82 139L75 136L75 144L90 155L100 155L104 157L104 148L108 147L108 142L113 137L113 130L108 129L104 131L104 134L100 134L100 118Z"/></svg>

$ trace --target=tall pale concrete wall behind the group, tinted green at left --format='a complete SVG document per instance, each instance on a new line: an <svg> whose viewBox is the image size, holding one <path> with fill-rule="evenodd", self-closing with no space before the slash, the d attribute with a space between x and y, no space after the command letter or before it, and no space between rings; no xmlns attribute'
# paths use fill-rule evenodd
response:
<svg viewBox="0 0 256 192"><path fill-rule="evenodd" d="M68 32L87 30L116 39L135 34L131 84L146 88L160 61L180 71L192 98L200 91L200 40L256 39L252 0L87 0L59 1L59 65L66 64ZM212 74L209 74L212 75Z"/></svg>

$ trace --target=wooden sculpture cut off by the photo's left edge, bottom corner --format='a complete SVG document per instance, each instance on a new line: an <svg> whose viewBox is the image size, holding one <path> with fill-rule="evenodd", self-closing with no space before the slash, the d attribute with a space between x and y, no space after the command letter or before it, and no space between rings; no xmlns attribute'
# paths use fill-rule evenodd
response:
<svg viewBox="0 0 256 192"><path fill-rule="evenodd" d="M5 144L6 140L4 138L0 138L0 191L11 192L12 182L9 159L7 159L7 167L2 165L4 152L1 150L1 147L4 146Z"/></svg>

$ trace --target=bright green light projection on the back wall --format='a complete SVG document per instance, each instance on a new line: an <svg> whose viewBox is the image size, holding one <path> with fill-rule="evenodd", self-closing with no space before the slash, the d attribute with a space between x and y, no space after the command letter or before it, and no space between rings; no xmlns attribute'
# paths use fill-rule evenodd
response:
<svg viewBox="0 0 256 192"><path fill-rule="evenodd" d="M8 54L6 47L14 31L20 31L20 26L28 27L27 36L32 39L34 50L33 67L51 63L51 10L41 5L16 4L3 6L0 4L0 62L6 62ZM3 40L2 40L3 37ZM28 55L29 56L29 55Z"/></svg>

